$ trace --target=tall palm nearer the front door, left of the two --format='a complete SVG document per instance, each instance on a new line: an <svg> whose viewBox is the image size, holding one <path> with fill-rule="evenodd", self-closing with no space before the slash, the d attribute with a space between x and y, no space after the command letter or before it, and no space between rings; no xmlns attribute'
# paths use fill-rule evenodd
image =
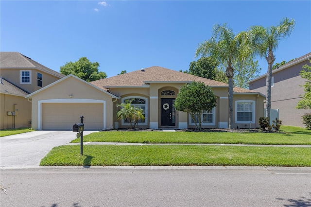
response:
<svg viewBox="0 0 311 207"><path fill-rule="evenodd" d="M233 124L233 66L242 61L248 50L244 48L245 40L243 35L235 35L231 28L225 23L216 24L213 27L213 35L210 39L199 44L195 56L210 56L215 58L219 63L225 66L225 75L228 77L228 96L229 96L229 126Z"/></svg>

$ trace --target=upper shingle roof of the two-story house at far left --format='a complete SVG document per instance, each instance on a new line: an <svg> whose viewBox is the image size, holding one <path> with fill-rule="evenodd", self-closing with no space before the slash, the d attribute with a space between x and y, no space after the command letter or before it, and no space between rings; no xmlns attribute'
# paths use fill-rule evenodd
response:
<svg viewBox="0 0 311 207"><path fill-rule="evenodd" d="M54 75L56 77L65 77L65 75L49 69L31 58L19 52L0 52L0 68L2 69L38 69Z"/></svg>

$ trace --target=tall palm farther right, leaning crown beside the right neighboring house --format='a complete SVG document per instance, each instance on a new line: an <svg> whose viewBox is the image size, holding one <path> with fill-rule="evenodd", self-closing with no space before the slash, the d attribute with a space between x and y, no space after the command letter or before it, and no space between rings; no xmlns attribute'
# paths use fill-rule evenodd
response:
<svg viewBox="0 0 311 207"><path fill-rule="evenodd" d="M266 117L270 120L271 109L271 78L272 66L276 59L273 52L276 51L281 39L288 37L294 30L295 20L284 17L279 25L264 28L262 26L253 26L249 34L253 38L253 49L255 54L265 58L268 62L268 71L266 78Z"/></svg>

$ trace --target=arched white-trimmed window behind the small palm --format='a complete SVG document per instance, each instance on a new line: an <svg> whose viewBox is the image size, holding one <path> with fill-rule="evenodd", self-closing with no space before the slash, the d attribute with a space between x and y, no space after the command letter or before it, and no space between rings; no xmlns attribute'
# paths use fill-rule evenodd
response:
<svg viewBox="0 0 311 207"><path fill-rule="evenodd" d="M147 102L148 99L144 98L144 97L125 97L122 99L122 103L129 103L130 101L132 101L132 105L134 105L135 107L139 107L143 110L142 115L145 117L144 120L139 120L138 121L138 125L147 125L148 121L147 121L147 116L148 116L148 109L147 109ZM122 119L122 125L130 125L130 123L127 120Z"/></svg>

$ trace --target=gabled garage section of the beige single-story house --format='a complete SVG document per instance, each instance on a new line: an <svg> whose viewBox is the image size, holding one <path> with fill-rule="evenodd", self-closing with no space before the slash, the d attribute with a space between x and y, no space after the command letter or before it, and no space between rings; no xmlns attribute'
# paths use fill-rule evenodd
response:
<svg viewBox="0 0 311 207"><path fill-rule="evenodd" d="M113 128L113 102L120 99L72 74L26 96L32 102L32 128L72 130L84 117L84 129Z"/></svg>

